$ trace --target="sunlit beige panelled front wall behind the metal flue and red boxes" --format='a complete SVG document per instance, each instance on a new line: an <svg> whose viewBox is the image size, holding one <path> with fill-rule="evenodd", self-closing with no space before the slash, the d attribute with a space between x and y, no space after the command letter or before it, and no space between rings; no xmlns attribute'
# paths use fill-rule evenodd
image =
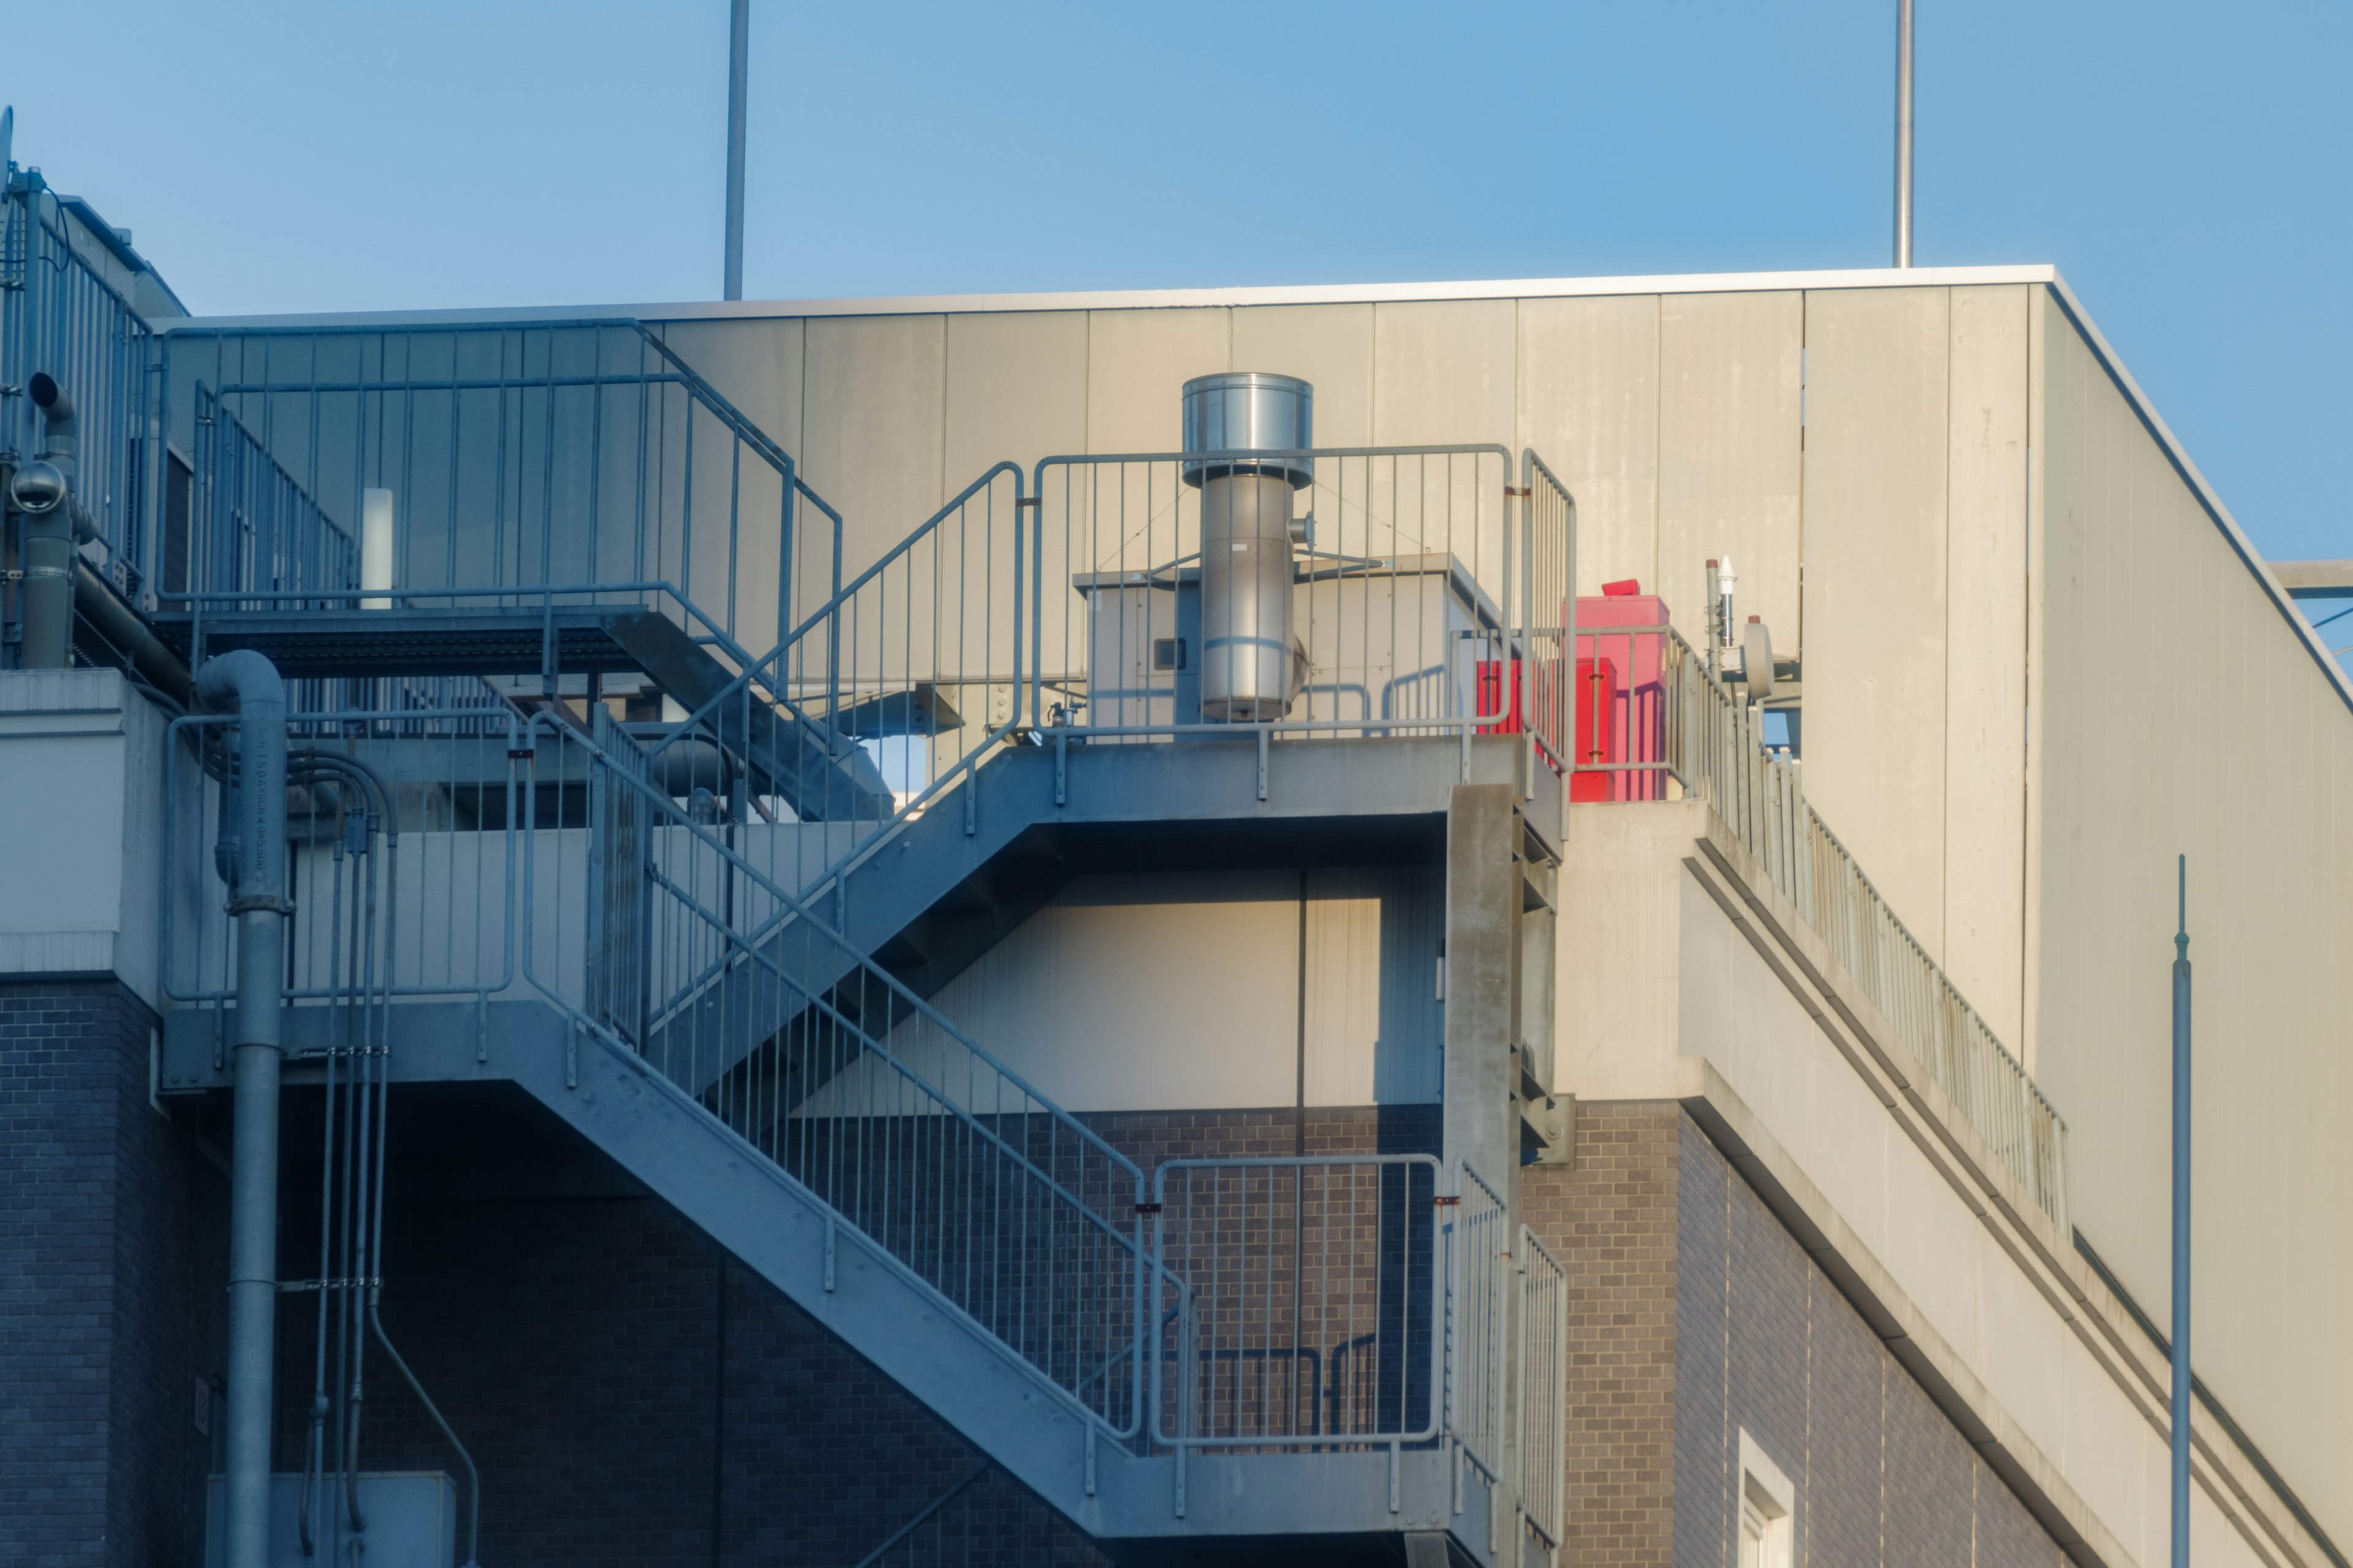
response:
<svg viewBox="0 0 2353 1568"><path fill-rule="evenodd" d="M1739 614L1805 663L1824 816L2014 1041L2035 294L1064 296L661 331L845 512L845 571L1000 458L1179 447L1176 390L1209 371L1311 378L1322 444L1534 447L1577 494L1584 592L1640 578L1699 642L1704 562L1734 559Z"/></svg>

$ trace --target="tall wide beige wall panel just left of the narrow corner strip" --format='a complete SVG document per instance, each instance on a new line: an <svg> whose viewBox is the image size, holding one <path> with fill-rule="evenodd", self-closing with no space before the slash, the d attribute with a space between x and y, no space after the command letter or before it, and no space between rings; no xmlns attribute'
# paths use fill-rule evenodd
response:
<svg viewBox="0 0 2353 1568"><path fill-rule="evenodd" d="M1807 296L1805 790L1944 959L1948 292Z"/></svg>

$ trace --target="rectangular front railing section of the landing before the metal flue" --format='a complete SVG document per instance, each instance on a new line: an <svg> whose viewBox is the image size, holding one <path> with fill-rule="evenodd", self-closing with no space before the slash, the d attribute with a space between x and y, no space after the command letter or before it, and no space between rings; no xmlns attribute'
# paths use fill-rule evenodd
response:
<svg viewBox="0 0 2353 1568"><path fill-rule="evenodd" d="M1294 696L1271 724L1205 724L1200 496L1219 456L1313 465L1294 501ZM1089 741L1179 733L1518 729L1532 559L1504 447L1108 454L1038 463L1028 717ZM1565 590L1567 578L1560 588ZM1551 618L1553 611L1546 611Z"/></svg>

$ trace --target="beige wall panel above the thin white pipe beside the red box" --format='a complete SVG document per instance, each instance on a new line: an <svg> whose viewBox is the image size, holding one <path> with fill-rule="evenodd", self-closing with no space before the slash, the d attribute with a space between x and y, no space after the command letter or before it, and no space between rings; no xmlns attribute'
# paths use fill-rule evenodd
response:
<svg viewBox="0 0 2353 1568"><path fill-rule="evenodd" d="M1699 637L1708 557L1739 571L1739 614L1798 654L1802 294L1659 301L1657 592ZM1649 581L1642 583L1649 588Z"/></svg>

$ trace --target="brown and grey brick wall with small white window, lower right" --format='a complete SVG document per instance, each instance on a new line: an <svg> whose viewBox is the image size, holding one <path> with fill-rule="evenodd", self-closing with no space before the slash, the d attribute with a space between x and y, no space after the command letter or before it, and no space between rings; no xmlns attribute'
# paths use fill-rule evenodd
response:
<svg viewBox="0 0 2353 1568"><path fill-rule="evenodd" d="M1793 1481L1800 1568L2061 1561L1673 1103L1581 1103L1577 1166L1520 1173L1569 1272L1562 1568L1729 1568L1746 1429Z"/></svg>

